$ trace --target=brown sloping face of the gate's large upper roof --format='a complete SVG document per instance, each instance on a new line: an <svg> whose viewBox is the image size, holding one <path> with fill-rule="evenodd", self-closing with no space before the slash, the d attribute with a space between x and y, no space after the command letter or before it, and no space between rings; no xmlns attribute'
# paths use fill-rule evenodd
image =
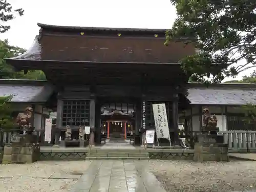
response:
<svg viewBox="0 0 256 192"><path fill-rule="evenodd" d="M183 42L164 45L165 38L133 36L43 35L40 40L44 60L93 62L178 62L195 52Z"/></svg>

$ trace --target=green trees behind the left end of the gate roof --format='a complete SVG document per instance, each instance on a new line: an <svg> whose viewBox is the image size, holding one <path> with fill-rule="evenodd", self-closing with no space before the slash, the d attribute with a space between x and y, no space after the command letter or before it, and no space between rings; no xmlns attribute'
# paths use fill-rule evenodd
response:
<svg viewBox="0 0 256 192"><path fill-rule="evenodd" d="M0 40L0 79L46 79L42 71L30 70L27 74L24 74L23 71L15 72L6 63L5 58L18 56L25 51L25 49L10 46L7 40Z"/></svg>

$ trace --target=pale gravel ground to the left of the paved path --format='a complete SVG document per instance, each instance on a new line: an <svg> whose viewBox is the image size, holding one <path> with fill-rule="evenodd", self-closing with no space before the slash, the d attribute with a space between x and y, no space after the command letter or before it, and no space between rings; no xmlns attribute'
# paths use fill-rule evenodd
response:
<svg viewBox="0 0 256 192"><path fill-rule="evenodd" d="M40 161L33 164L0 164L2 192L66 192L90 161Z"/></svg>

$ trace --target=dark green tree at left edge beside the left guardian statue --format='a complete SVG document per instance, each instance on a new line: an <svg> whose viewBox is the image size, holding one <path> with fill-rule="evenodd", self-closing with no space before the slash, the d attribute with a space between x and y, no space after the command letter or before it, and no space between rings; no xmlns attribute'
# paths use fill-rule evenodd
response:
<svg viewBox="0 0 256 192"><path fill-rule="evenodd" d="M14 127L12 118L12 106L9 102L13 96L0 97L0 129L11 129Z"/></svg>

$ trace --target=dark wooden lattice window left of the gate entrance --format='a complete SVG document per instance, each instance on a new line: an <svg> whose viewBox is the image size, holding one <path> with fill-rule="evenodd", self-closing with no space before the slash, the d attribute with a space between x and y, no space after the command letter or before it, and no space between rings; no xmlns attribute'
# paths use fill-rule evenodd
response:
<svg viewBox="0 0 256 192"><path fill-rule="evenodd" d="M66 125L90 125L90 100L63 101L62 126Z"/></svg>

